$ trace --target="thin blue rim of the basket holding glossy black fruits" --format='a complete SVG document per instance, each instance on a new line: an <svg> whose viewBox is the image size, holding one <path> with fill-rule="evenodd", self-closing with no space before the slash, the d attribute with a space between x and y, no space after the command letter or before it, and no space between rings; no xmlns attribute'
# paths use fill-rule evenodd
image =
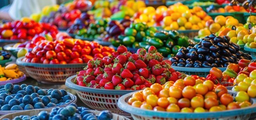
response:
<svg viewBox="0 0 256 120"><path fill-rule="evenodd" d="M209 72L211 67L182 67L182 66L171 66L176 71L197 71L197 72ZM217 67L221 71L224 71L226 67Z"/></svg>

